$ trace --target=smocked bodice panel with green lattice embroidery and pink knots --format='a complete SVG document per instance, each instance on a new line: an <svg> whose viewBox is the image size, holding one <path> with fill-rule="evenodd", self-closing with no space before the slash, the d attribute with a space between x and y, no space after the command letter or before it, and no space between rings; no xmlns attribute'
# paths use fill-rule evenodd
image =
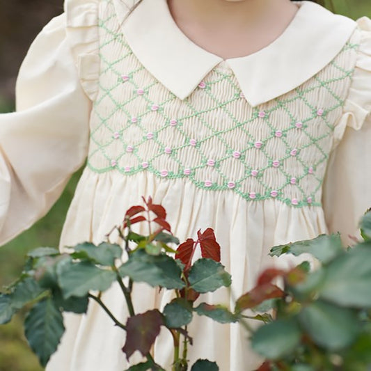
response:
<svg viewBox="0 0 371 371"><path fill-rule="evenodd" d="M349 42L302 86L252 108L224 62L190 97L178 100L144 70L118 29L108 1L100 18L90 170L145 171L187 179L200 189L233 191L246 200L320 205L334 125L354 70L352 58L343 56L352 56L357 45Z"/></svg>

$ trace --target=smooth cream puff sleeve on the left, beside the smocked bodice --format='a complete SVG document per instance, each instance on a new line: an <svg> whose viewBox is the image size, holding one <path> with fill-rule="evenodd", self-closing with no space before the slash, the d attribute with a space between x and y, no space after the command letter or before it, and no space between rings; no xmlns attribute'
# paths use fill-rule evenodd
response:
<svg viewBox="0 0 371 371"><path fill-rule="evenodd" d="M86 159L90 105L65 15L31 45L17 79L17 111L0 115L0 245L58 199Z"/></svg>

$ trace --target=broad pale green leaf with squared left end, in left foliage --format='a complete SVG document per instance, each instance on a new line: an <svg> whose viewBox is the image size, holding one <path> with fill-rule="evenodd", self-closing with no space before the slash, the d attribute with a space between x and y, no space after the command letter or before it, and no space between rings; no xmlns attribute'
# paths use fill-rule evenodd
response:
<svg viewBox="0 0 371 371"><path fill-rule="evenodd" d="M63 297L84 297L90 290L105 291L116 274L113 271L100 269L90 262L66 262L57 267L58 282Z"/></svg>

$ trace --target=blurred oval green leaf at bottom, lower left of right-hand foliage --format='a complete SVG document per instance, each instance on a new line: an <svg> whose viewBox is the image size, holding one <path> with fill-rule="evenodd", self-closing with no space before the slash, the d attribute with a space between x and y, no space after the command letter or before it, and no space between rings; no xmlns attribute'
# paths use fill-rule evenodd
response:
<svg viewBox="0 0 371 371"><path fill-rule="evenodd" d="M301 331L294 318L278 319L253 333L251 347L261 356L275 360L291 354L300 338Z"/></svg>

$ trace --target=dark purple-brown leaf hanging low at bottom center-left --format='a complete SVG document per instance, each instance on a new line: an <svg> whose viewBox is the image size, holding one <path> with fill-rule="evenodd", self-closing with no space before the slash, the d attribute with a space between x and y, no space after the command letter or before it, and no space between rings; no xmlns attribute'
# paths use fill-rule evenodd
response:
<svg viewBox="0 0 371 371"><path fill-rule="evenodd" d="M123 352L128 361L136 350L139 350L143 356L150 352L163 324L162 315L156 309L127 319L127 336Z"/></svg>

